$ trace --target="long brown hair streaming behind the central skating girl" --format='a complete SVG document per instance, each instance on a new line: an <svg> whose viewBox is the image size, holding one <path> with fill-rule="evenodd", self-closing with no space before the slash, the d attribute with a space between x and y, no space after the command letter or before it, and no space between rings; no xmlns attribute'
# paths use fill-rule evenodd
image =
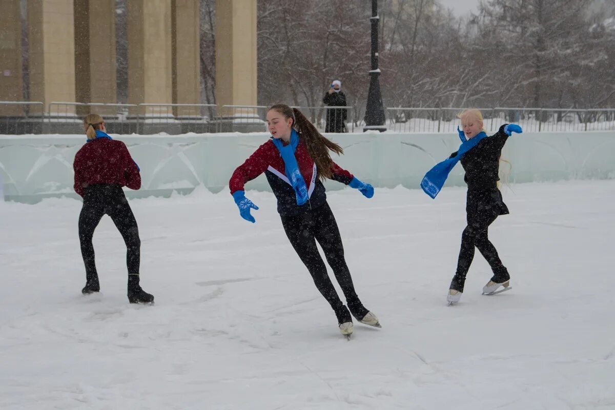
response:
<svg viewBox="0 0 615 410"><path fill-rule="evenodd" d="M306 116L301 114L301 111L298 109L290 108L286 104L273 105L269 108L269 111L272 109L282 114L284 119L293 119L292 126L297 130L300 138L303 138L306 146L308 146L309 156L312 157L312 160L314 160L316 164L318 177L322 181L331 178L333 176L331 172L333 160L331 159L330 151L341 155L344 153L344 149L319 133L316 127L314 127L314 124L312 124Z"/></svg>

